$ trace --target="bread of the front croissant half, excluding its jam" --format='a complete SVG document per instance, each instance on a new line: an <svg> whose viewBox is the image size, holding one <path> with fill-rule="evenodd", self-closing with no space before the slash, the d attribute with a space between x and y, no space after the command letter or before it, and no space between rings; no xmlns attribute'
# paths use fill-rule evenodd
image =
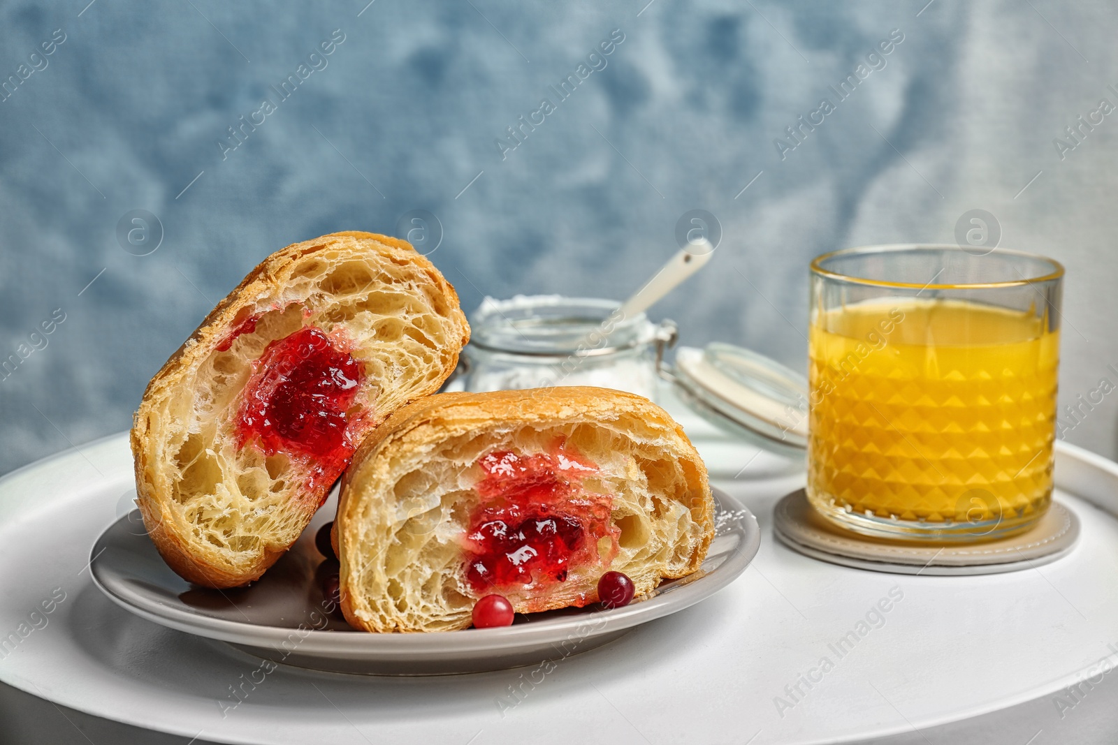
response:
<svg viewBox="0 0 1118 745"><path fill-rule="evenodd" d="M334 520L342 610L367 631L471 624L476 594L462 577L462 539L480 497L480 457L533 453L561 440L593 460L591 490L610 494L618 553L636 593L702 565L714 535L699 453L663 409L620 391L565 386L439 393L392 414L342 477ZM589 484L589 481L587 481ZM549 594L506 594L518 612L595 602L601 566L571 567Z"/></svg>

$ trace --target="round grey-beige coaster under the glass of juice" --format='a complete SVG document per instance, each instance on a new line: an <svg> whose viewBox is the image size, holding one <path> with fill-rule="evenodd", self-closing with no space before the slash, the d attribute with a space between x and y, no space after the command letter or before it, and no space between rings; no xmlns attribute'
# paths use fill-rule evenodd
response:
<svg viewBox="0 0 1118 745"><path fill-rule="evenodd" d="M781 543L806 556L894 574L1015 572L1060 558L1079 538L1079 518L1059 502L1029 531L989 543L922 545L873 538L832 525L803 489L776 504L773 528Z"/></svg>

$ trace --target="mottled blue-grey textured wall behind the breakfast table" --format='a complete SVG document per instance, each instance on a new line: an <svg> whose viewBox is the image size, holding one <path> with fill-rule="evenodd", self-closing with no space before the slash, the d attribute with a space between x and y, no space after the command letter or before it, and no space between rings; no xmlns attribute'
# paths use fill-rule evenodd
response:
<svg viewBox="0 0 1118 745"><path fill-rule="evenodd" d="M0 7L0 359L26 356L0 380L0 471L125 429L266 254L415 209L470 309L623 297L705 209L721 247L657 315L797 366L812 256L954 242L984 209L1003 246L1068 265L1064 402L1118 382L1118 117L1064 133L1118 105L1112 3L86 1ZM513 150L520 116L542 122ZM822 123L797 143L798 116ZM132 210L162 226L146 256L117 238ZM1069 439L1114 456L1118 404L1084 411Z"/></svg>

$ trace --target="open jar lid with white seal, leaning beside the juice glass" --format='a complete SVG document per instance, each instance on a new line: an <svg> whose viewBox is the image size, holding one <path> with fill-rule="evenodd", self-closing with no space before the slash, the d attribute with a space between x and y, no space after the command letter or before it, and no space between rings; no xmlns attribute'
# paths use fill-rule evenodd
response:
<svg viewBox="0 0 1118 745"><path fill-rule="evenodd" d="M718 342L681 346L661 376L716 427L783 455L807 448L807 380L775 360Z"/></svg>

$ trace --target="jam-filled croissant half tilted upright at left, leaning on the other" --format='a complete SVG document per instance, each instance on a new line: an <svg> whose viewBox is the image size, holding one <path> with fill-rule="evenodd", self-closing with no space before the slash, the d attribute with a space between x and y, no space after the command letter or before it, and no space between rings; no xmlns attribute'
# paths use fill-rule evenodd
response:
<svg viewBox="0 0 1118 745"><path fill-rule="evenodd" d="M363 437L438 390L470 337L410 245L339 232L273 254L155 374L132 429L144 524L183 579L255 580Z"/></svg>

